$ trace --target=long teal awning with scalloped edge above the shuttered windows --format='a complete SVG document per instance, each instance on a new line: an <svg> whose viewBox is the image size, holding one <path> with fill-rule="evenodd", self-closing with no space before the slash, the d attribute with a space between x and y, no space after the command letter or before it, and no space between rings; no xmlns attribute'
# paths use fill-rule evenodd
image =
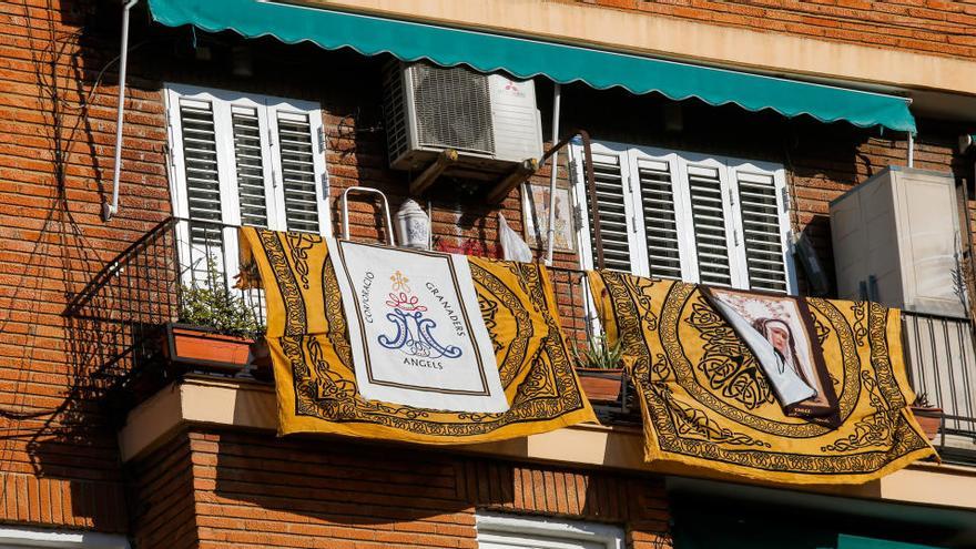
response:
<svg viewBox="0 0 976 549"><path fill-rule="evenodd" d="M831 85L700 67L626 53L528 40L321 8L257 0L150 0L162 24L192 24L247 38L272 35L287 43L311 41L366 55L390 53L403 61L467 64L481 72L517 78L543 75L596 89L621 87L637 94L658 92L673 100L698 98L712 105L735 103L750 111L772 109L785 116L809 114L823 122L884 126L915 132L904 98Z"/></svg>

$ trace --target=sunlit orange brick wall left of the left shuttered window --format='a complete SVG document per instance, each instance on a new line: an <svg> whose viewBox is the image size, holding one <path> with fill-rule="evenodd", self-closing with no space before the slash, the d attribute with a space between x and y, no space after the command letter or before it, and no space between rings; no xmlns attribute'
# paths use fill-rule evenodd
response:
<svg viewBox="0 0 976 549"><path fill-rule="evenodd" d="M118 42L87 35L89 7L0 4L0 520L125 531L105 373L81 359L67 295L166 216L159 93L129 102L125 214L99 220L111 181ZM109 85L111 83L111 85Z"/></svg>

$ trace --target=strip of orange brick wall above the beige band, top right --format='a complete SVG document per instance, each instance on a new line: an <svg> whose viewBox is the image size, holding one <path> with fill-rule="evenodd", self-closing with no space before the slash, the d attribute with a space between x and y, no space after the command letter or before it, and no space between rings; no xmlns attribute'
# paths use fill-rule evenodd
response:
<svg viewBox="0 0 976 549"><path fill-rule="evenodd" d="M572 1L572 0L571 0ZM976 57L976 6L943 0L575 0L609 9L937 55Z"/></svg>

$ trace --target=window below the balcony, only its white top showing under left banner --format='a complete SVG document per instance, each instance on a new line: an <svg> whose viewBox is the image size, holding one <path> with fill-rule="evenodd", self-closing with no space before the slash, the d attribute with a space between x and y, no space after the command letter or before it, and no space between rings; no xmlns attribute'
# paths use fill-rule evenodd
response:
<svg viewBox="0 0 976 549"><path fill-rule="evenodd" d="M623 529L612 525L479 512L480 549L623 549Z"/></svg>

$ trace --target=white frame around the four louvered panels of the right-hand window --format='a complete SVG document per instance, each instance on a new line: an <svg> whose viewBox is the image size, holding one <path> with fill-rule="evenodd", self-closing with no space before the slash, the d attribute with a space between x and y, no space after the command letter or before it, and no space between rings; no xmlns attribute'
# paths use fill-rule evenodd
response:
<svg viewBox="0 0 976 549"><path fill-rule="evenodd" d="M691 283L700 282L701 273L695 247L697 235L692 221L689 167L705 166L718 170L725 220L725 243L729 254L731 286L740 289L750 289L751 284L743 232L743 213L739 194L739 172L754 171L770 175L773 180L776 196L780 246L785 270L786 294L796 294L796 268L791 242L790 199L786 187L786 171L782 164L612 141L594 141L591 144L591 149L594 155L617 156L618 163L621 166L631 273L640 276L651 276L644 218L639 209L641 204L641 189L638 163L641 159L667 162L669 165L675 210L675 226L678 227L681 279ZM594 268L590 242L592 233L587 210L588 190L584 185L581 144L573 143L570 146L570 159L572 162L571 175L573 177L571 185L572 202L578 221L577 244L580 250L580 267L584 270Z"/></svg>

